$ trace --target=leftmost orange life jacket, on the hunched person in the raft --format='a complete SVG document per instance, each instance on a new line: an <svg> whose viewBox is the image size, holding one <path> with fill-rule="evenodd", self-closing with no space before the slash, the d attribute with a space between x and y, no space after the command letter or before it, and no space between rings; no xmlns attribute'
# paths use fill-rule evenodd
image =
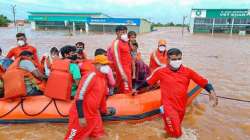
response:
<svg viewBox="0 0 250 140"><path fill-rule="evenodd" d="M19 67L21 60L30 60L36 67L38 66L35 61L27 57L18 57L2 76L4 82L4 98L26 96L25 78L29 78L34 82L39 87L39 90L44 91L45 89L45 83L43 81L34 77L31 72Z"/></svg>

